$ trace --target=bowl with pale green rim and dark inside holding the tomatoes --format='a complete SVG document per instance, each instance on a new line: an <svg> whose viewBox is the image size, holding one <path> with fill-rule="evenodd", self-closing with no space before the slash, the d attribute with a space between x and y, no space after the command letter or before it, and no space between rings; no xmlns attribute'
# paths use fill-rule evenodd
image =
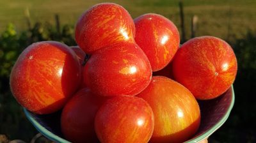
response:
<svg viewBox="0 0 256 143"><path fill-rule="evenodd" d="M221 127L228 119L230 111L234 106L235 94L231 86L225 93L213 100L199 100L201 110L201 124L195 136L186 143L200 142L207 139L212 133ZM61 134L60 116L61 110L54 114L38 115L24 109L28 120L35 126L38 132L54 142L67 143Z"/></svg>

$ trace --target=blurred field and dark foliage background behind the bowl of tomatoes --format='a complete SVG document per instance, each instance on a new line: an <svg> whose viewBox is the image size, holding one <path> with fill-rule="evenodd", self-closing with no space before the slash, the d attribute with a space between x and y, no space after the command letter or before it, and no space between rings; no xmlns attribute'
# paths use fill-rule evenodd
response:
<svg viewBox="0 0 256 143"><path fill-rule="evenodd" d="M132 18L159 13L172 20L182 33L178 0L1 0L0 135L30 142L37 133L10 93L10 71L20 52L35 41L56 40L76 45L76 20L87 8L101 2L121 4ZM222 38L232 45L237 56L234 109L209 142L256 142L256 106L253 103L256 101L256 1L184 0L182 4L185 34L181 35L182 41L191 38L191 19L196 15L195 36Z"/></svg>

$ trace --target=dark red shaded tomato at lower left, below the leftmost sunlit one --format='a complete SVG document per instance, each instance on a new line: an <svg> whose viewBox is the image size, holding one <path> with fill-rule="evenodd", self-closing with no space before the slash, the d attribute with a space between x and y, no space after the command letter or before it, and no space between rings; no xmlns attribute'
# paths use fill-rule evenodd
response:
<svg viewBox="0 0 256 143"><path fill-rule="evenodd" d="M88 88L78 91L61 114L61 131L65 138L71 142L99 142L94 130L94 118L104 100Z"/></svg>

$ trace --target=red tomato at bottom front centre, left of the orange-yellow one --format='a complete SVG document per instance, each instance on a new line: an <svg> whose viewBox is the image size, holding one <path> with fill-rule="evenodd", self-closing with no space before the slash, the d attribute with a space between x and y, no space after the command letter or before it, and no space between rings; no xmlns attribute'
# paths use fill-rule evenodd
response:
<svg viewBox="0 0 256 143"><path fill-rule="evenodd" d="M95 131L102 143L148 142L153 130L152 109L136 96L107 100L95 117Z"/></svg>

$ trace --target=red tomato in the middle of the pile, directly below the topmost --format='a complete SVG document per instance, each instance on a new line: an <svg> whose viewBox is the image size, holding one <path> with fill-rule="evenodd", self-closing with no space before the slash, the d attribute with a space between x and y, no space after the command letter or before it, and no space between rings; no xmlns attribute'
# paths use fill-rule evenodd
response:
<svg viewBox="0 0 256 143"><path fill-rule="evenodd" d="M136 43L98 50L83 69L86 86L100 96L134 96L148 86L151 77L147 56Z"/></svg>

